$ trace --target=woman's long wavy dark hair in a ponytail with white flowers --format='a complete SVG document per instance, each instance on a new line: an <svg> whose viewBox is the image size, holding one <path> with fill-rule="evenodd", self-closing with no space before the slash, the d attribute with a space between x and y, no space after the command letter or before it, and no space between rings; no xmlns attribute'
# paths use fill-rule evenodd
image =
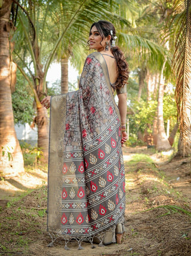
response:
<svg viewBox="0 0 191 256"><path fill-rule="evenodd" d="M115 46L114 44L115 36L116 36L115 27L113 26L112 23L107 22L106 20L99 20L98 22L93 23L93 25L91 25L90 31L93 28L93 26L96 26L97 31L101 35L102 37L101 41L103 41L104 37L107 37L108 35L111 36L111 40L110 40L111 52L116 59L116 64L118 67L118 77L116 79L115 86L116 88L120 89L127 84L129 71L128 71L128 63L125 60L124 53L118 46ZM88 45L89 45L89 41L88 41Z"/></svg>

